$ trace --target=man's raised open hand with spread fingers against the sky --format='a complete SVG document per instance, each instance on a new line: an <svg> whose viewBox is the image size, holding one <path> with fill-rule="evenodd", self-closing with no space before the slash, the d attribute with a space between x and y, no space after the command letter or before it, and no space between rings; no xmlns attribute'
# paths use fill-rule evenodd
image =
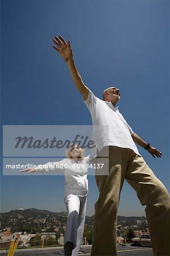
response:
<svg viewBox="0 0 170 256"><path fill-rule="evenodd" d="M55 36L53 42L55 44L53 45L53 48L56 49L57 52L59 52L63 60L67 62L70 59L73 59L73 52L70 46L70 40L68 40L68 42L66 43L65 39L63 39L62 36Z"/></svg>

